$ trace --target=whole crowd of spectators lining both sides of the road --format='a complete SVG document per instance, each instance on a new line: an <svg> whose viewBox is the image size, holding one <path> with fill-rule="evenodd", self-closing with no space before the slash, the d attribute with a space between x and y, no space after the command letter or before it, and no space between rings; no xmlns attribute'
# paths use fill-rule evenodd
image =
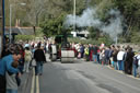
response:
<svg viewBox="0 0 140 93"><path fill-rule="evenodd" d="M54 45L49 40L44 42L20 42L4 46L0 59L0 93L18 93L18 88L22 82L20 77L28 73L35 62L35 74L43 74L43 65L46 60L46 53L50 51ZM105 44L74 44L70 43L69 48L74 50L78 59L85 61L108 65L115 70L121 70L127 74L140 77L140 51L133 51L130 46L120 47Z"/></svg>

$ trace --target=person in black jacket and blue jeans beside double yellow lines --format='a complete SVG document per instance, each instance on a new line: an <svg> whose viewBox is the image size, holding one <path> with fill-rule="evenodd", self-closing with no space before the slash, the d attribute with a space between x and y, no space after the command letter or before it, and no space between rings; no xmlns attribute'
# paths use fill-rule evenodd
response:
<svg viewBox="0 0 140 93"><path fill-rule="evenodd" d="M46 61L45 53L40 45L37 46L37 49L34 53L34 59L36 61L36 67L35 67L35 74L43 74L43 63Z"/></svg>

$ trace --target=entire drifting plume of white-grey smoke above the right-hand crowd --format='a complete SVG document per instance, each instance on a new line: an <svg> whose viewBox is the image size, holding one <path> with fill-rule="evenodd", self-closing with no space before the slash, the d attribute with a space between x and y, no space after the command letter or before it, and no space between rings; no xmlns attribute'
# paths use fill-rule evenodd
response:
<svg viewBox="0 0 140 93"><path fill-rule="evenodd" d="M103 31L103 33L109 34L112 38L116 38L118 34L122 32L122 16L120 15L120 12L118 10L110 10L108 15L114 16L108 20L108 24L102 22L97 16L96 9L89 8L85 11L83 11L82 15L75 16L69 14L66 19L65 25L68 27L70 25L75 24L79 27L84 26L93 26L98 28L100 31Z"/></svg>

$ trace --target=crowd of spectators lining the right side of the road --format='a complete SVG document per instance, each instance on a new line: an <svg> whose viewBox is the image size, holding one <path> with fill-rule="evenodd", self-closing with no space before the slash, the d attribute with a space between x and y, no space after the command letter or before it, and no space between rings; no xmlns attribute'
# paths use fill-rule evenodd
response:
<svg viewBox="0 0 140 93"><path fill-rule="evenodd" d="M140 51L133 51L130 46L105 46L71 44L74 47L75 57L84 58L86 61L108 65L115 70L140 77Z"/></svg>

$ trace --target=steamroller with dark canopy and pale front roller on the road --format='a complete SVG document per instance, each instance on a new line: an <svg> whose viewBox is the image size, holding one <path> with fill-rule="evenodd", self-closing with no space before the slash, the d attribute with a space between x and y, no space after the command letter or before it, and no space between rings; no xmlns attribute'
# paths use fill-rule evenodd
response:
<svg viewBox="0 0 140 93"><path fill-rule="evenodd" d="M54 56L51 57L52 60L56 59L60 59L60 61L62 63L65 62L73 62L74 61L74 50L71 48L70 44L67 40L67 35L57 35L55 37L55 43L56 43L56 48L55 46L52 48L51 46L51 51L56 51L56 56L54 54Z"/></svg>

